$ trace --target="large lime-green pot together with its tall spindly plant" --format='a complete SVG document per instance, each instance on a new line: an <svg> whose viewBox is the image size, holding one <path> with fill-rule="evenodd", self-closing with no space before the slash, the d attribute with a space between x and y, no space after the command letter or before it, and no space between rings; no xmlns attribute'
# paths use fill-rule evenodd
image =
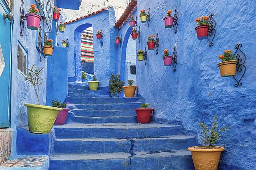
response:
<svg viewBox="0 0 256 170"><path fill-rule="evenodd" d="M43 69L34 68L34 65L31 69L28 70L28 74L25 76L25 81L29 82L29 86L33 86L33 90L38 100L37 104L25 103L27 107L27 120L29 125L29 132L37 134L48 134L52 129L52 126L56 120L58 112L62 109L56 107L50 107L45 105L40 105L39 100L39 87L44 83Z"/></svg>

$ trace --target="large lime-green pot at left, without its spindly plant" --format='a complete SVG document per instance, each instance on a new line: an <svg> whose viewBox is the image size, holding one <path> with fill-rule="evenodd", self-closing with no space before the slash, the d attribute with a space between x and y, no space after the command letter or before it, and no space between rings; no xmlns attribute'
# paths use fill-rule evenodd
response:
<svg viewBox="0 0 256 170"><path fill-rule="evenodd" d="M24 104L27 107L29 132L49 134L61 108L44 105Z"/></svg>

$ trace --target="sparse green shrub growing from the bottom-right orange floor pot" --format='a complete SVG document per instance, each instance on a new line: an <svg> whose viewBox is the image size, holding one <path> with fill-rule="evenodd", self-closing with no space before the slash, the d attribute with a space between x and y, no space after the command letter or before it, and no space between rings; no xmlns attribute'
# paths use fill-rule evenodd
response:
<svg viewBox="0 0 256 170"><path fill-rule="evenodd" d="M204 124L204 122L198 122L203 134L203 137L200 137L200 140L206 146L208 146L208 149L210 149L211 146L216 143L217 139L221 137L220 133L228 129L228 127L217 129L217 126L218 126L217 120L218 120L217 115L214 115L210 128L208 127L208 125Z"/></svg>

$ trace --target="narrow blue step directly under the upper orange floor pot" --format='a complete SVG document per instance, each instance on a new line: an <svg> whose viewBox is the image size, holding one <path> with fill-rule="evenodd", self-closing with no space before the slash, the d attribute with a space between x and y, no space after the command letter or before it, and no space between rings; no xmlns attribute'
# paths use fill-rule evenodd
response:
<svg viewBox="0 0 256 170"><path fill-rule="evenodd" d="M110 104L110 103L132 103L140 101L140 97L67 97L66 101L76 104Z"/></svg>

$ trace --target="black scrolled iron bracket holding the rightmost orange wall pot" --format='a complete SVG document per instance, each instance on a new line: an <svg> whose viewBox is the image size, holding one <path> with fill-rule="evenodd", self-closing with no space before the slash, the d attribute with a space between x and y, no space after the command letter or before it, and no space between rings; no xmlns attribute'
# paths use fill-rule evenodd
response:
<svg viewBox="0 0 256 170"><path fill-rule="evenodd" d="M235 87L238 86L242 86L242 83L240 82L245 74L246 71L246 67L244 65L245 61L246 61L246 55L244 54L244 52L242 52L242 50L240 49L242 47L242 44L239 42L237 43L237 45L235 46L235 57L237 58L237 68L236 68L236 73L237 72L242 72L242 76L237 79L235 76L233 76L233 78L236 80L236 84Z"/></svg>

